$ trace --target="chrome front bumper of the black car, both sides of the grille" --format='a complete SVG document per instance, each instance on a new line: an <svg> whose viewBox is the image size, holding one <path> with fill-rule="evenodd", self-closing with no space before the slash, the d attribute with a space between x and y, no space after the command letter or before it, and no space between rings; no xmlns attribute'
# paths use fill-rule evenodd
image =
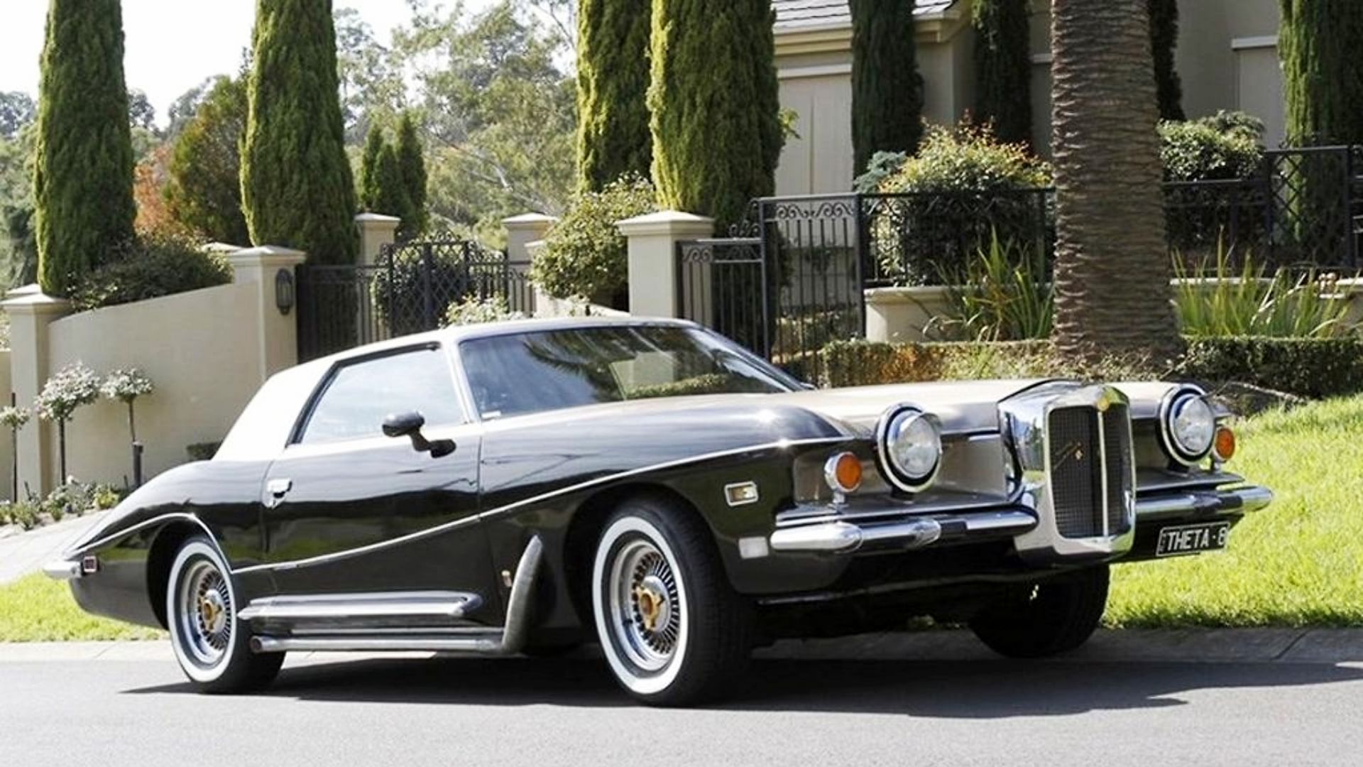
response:
<svg viewBox="0 0 1363 767"><path fill-rule="evenodd" d="M1257 512L1273 502L1268 487L1234 490L1161 491L1135 502L1135 521L1209 517ZM902 506L886 506L883 515L904 513ZM923 513L893 521L860 521L876 517L875 510L860 509L856 520L836 519L840 510L829 508L827 516L811 521L793 520L770 536L773 551L851 554L861 549L915 551L951 542L981 542L1011 538L1036 528L1036 512L1025 506L953 513Z"/></svg>

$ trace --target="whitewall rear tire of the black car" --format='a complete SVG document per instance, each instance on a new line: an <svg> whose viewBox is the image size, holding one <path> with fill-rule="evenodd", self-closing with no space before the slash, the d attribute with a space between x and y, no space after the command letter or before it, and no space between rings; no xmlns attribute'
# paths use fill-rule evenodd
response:
<svg viewBox="0 0 1363 767"><path fill-rule="evenodd" d="M236 588L222 554L195 536L180 546L166 587L170 647L184 676L203 692L243 692L269 684L284 654L255 655L237 620Z"/></svg>

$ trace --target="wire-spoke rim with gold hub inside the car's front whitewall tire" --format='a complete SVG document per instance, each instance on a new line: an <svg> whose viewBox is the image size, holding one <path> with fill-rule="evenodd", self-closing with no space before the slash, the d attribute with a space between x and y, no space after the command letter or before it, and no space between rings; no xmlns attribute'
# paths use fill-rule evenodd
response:
<svg viewBox="0 0 1363 767"><path fill-rule="evenodd" d="M686 621L672 562L652 542L632 538L616 550L607 588L620 651L642 671L667 667Z"/></svg>

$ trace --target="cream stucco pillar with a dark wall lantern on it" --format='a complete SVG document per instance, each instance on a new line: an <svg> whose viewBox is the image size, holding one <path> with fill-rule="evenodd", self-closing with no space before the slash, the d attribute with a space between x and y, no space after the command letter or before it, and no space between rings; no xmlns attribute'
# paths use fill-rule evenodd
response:
<svg viewBox="0 0 1363 767"><path fill-rule="evenodd" d="M233 283L254 288L260 318L256 326L258 355L254 373L263 384L270 375L298 363L298 283L294 267L307 261L307 254L263 246L239 250L226 259L232 265ZM279 308L281 291L293 296L294 306L288 313Z"/></svg>

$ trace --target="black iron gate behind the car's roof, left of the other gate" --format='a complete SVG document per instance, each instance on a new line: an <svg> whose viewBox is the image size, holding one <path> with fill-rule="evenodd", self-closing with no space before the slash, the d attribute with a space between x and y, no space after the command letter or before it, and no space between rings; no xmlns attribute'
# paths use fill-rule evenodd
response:
<svg viewBox="0 0 1363 767"><path fill-rule="evenodd" d="M298 360L446 325L465 300L534 314L534 289L506 254L463 239L384 246L378 263L300 266Z"/></svg>

